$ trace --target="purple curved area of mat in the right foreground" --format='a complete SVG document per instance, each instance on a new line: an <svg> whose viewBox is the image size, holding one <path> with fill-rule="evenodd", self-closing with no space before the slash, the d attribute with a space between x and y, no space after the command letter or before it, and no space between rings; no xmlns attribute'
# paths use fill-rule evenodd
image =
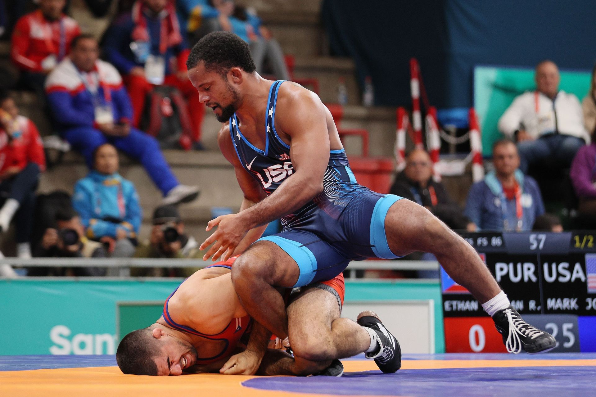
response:
<svg viewBox="0 0 596 397"><path fill-rule="evenodd" d="M259 377L243 386L339 396L586 397L594 395L596 367L449 368L346 373L333 377Z"/></svg>

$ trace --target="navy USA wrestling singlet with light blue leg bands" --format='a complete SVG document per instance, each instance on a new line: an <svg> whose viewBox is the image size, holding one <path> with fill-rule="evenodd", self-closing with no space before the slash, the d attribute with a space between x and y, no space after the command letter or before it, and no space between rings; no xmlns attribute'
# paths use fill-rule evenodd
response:
<svg viewBox="0 0 596 397"><path fill-rule="evenodd" d="M268 195L295 172L290 146L275 129L277 95L283 82L278 80L269 89L263 126L265 150L242 135L236 114L229 119L229 133L240 162ZM259 241L272 241L296 260L300 267L296 287L329 280L350 260L396 258L387 245L384 218L399 198L359 185L345 151L331 150L322 192L294 213L283 216L280 233Z"/></svg>

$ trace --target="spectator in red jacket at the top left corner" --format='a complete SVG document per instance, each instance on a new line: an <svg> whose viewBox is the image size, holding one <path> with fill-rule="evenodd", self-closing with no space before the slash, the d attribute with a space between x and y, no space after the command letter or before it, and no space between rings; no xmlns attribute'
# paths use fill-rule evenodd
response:
<svg viewBox="0 0 596 397"><path fill-rule="evenodd" d="M63 14L64 5L66 0L40 0L39 10L21 17L13 32L11 57L21 70L21 85L42 98L46 76L80 34L79 24Z"/></svg>

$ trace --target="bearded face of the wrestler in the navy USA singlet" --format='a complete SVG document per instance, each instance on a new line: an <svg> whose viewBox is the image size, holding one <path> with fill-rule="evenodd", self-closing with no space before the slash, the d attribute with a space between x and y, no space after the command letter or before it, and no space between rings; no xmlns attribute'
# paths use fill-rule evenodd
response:
<svg viewBox="0 0 596 397"><path fill-rule="evenodd" d="M209 72L203 62L188 71L188 78L197 89L198 99L209 107L220 123L226 122L240 104L240 95L234 87L234 74L240 69L232 68L225 76Z"/></svg>

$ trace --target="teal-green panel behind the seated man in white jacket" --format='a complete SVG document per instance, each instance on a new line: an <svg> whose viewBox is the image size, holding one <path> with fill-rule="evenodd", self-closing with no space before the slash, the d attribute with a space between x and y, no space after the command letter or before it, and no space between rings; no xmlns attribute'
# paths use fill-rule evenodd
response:
<svg viewBox="0 0 596 397"><path fill-rule="evenodd" d="M581 101L590 88L590 71L561 70L560 89L575 94ZM501 137L499 118L517 95L536 88L534 70L513 67L477 66L474 68L474 108L482 130L482 154L491 156L492 144Z"/></svg>

